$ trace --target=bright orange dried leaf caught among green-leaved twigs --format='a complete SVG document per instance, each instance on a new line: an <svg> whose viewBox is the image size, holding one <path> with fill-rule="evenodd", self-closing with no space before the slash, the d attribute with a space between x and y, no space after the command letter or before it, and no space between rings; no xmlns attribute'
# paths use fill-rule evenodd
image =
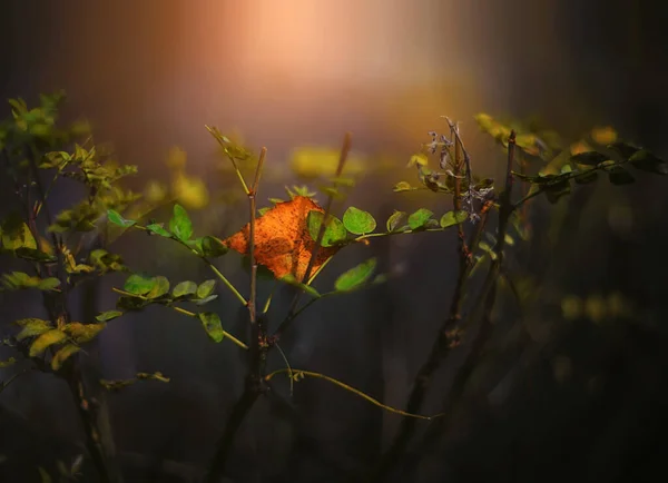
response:
<svg viewBox="0 0 668 483"><path fill-rule="evenodd" d="M255 259L274 273L276 278L293 275L302 280L315 247L308 234L306 217L312 210L324 213L316 203L305 196L292 201L277 203L255 220ZM243 255L248 254L249 224L223 240L227 247ZM311 275L340 247L320 247Z"/></svg>

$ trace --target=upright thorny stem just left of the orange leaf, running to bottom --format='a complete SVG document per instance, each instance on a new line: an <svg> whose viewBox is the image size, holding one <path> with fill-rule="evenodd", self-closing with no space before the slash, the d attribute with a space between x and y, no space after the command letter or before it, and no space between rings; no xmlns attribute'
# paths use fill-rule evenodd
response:
<svg viewBox="0 0 668 483"><path fill-rule="evenodd" d="M268 344L266 343L266 328L265 328L265 314L257 316L256 303L257 303L257 260L255 259L255 218L256 218L256 195L259 178L262 176L262 168L264 165L264 158L266 156L266 148L263 148L259 154L257 167L255 169L255 179L250 189L246 187L246 184L242 179L245 187L246 195L248 196L248 208L249 208L249 229L248 229L248 256L250 258L250 296L246 302L248 307L248 316L250 322L250 351L248 353L248 374L244 384L244 392L242 397L234 405L232 413L225 424L223 436L216 444L216 453L214 455L213 463L208 470L206 482L217 483L225 475L227 461L229 453L234 446L234 440L238 428L246 418L248 412L253 408L253 405L257 401L261 394L265 392L264 378L262 373L266 362L266 354ZM234 162L234 161L233 161ZM236 168L236 165L235 165Z"/></svg>

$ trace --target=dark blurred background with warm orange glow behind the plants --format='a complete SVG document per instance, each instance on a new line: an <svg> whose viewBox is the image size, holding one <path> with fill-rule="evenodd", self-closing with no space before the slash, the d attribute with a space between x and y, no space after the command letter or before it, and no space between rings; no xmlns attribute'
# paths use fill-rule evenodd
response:
<svg viewBox="0 0 668 483"><path fill-rule="evenodd" d="M446 130L442 115L461 120L482 176L499 176L503 157L473 121L481 111L537 117L573 139L613 126L666 157L667 20L650 0L0 0L0 97L33 101L65 89L66 116L85 116L97 141L139 166L138 189L169 183L165 161L178 146L209 193L238 190L220 175L204 125L239 132L255 149L268 148L263 201L302 181L291 169L295 147L338 149L352 131L366 165L345 205L384 220L393 209L449 209L438 197L391 189L413 176L405 162L430 140L426 132ZM581 188L556 206L537 201L537 235L511 257L537 284L531 303L518 310L504 299L468 395L456 395L465 404L428 440L429 451L421 426L412 456L387 481L649 481L660 471L668 456L665 186L638 176L630 187ZM60 193L56 204L75 195ZM245 223L245 205L217 201L212 196L193 213L203 230L223 237ZM145 238L117 243L130 267L208 278ZM404 406L456 277L454 233L406 238L336 258L323 286L372 254L402 276L306 313L285 338L293 366ZM220 267L246 283L238 257ZM110 287L121 283L81 297L95 297L98 312L112 308ZM569 318L564 299L583 307L621 299L632 310L586 308ZM279 297L276 313L288 302ZM2 299L2 323L38 303ZM243 336L246 314L234 298L222 293L217 309ZM90 352L91 379L138 371L171 377L106 396L127 482L197 481L240 394L243 354L189 322L159 309L127 316ZM455 357L438 373L423 413L454 397L456 369ZM38 464L52 467L80 451L68 397L58 381L37 374L1 394L1 481L39 481ZM291 402L294 411L255 407L237 438L232 481L347 481L377 461L399 426L400 416L321 381L301 382Z"/></svg>

